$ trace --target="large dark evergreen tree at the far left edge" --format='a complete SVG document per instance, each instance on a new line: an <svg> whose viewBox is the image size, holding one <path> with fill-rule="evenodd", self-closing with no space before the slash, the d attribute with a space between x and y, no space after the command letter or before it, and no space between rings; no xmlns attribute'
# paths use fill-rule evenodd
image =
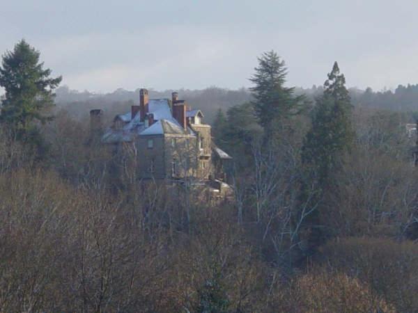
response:
<svg viewBox="0 0 418 313"><path fill-rule="evenodd" d="M53 90L61 77L50 78L51 70L39 61L40 52L25 40L3 55L0 86L6 90L1 102L0 122L6 124L22 141L40 140L36 121L45 123L50 117L45 110L54 105Z"/></svg>

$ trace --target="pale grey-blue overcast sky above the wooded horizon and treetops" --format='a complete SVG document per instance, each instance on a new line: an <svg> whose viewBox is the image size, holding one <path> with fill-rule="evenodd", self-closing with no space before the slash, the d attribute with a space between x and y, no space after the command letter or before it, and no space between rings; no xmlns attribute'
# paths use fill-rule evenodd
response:
<svg viewBox="0 0 418 313"><path fill-rule="evenodd" d="M72 89L248 87L274 49L288 85L418 83L416 0L0 0L0 51L25 38Z"/></svg>

